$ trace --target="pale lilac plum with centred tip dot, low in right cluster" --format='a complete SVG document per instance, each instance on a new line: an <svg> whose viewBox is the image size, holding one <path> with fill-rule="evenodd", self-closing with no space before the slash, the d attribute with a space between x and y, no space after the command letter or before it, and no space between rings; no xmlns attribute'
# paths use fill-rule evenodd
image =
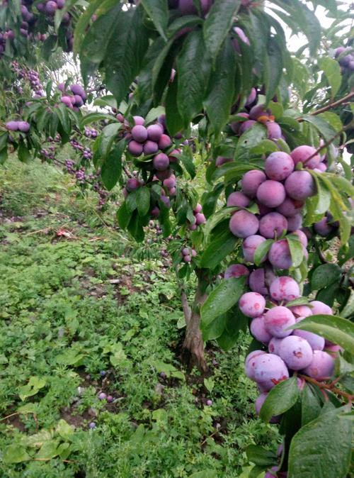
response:
<svg viewBox="0 0 354 478"><path fill-rule="evenodd" d="M289 335L282 339L279 355L287 367L301 370L312 362L313 352L307 340L297 335Z"/></svg>

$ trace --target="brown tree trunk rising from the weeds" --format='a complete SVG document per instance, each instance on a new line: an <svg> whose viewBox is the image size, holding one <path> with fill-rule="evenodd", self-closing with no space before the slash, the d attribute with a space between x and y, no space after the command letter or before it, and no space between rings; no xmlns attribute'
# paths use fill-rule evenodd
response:
<svg viewBox="0 0 354 478"><path fill-rule="evenodd" d="M188 305L185 291L182 291L181 294L186 324L181 357L189 369L198 367L201 372L207 372L207 363L205 362L204 357L204 343L202 340L202 332L200 330L200 306L202 306L205 299L207 299L207 295L201 293L202 277L197 271L196 273L198 275L198 287L195 291L195 299L192 309L190 309L190 306Z"/></svg>

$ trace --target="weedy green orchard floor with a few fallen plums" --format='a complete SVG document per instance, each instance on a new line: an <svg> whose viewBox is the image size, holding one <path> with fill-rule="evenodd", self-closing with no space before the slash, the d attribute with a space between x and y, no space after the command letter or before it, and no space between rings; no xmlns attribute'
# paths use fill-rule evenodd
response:
<svg viewBox="0 0 354 478"><path fill-rule="evenodd" d="M54 167L0 168L1 478L248 477L246 446L278 438L248 339L187 374L161 242L137 248L95 206Z"/></svg>

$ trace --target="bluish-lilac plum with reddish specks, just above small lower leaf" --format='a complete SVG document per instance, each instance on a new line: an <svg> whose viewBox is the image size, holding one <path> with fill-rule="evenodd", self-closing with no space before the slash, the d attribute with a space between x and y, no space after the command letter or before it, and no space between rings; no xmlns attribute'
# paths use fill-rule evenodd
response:
<svg viewBox="0 0 354 478"><path fill-rule="evenodd" d="M289 371L285 362L278 356L270 353L256 357L254 366L255 381L262 389L268 391L282 380L289 378Z"/></svg>

